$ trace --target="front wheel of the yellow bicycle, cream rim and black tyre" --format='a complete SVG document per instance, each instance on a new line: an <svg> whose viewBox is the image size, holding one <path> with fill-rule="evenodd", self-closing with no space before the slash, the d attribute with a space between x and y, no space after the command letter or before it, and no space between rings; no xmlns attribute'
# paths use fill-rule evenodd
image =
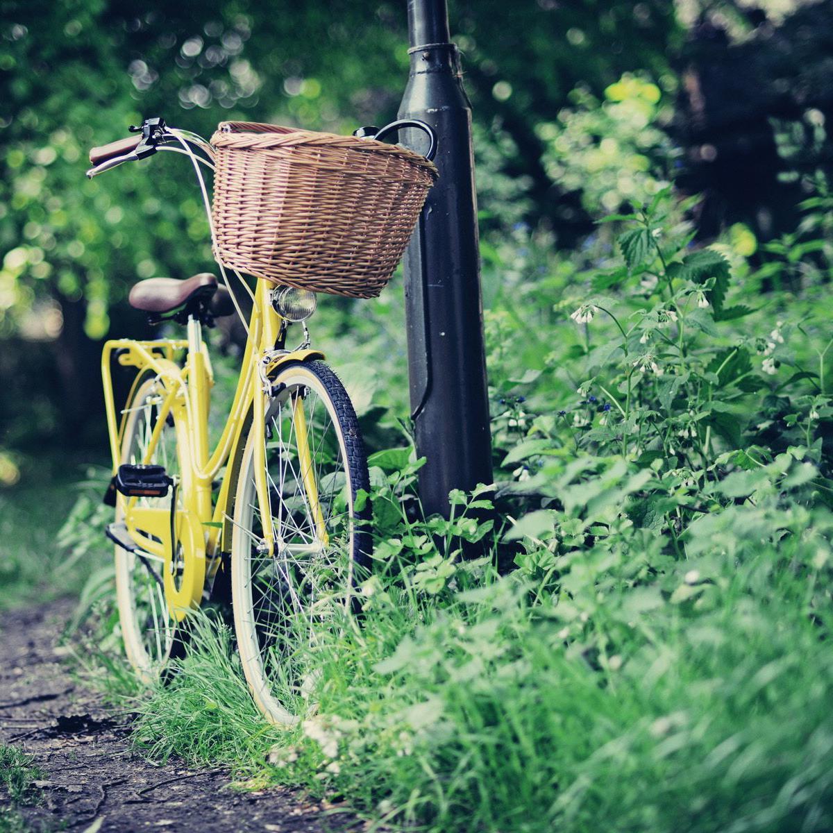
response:
<svg viewBox="0 0 833 833"><path fill-rule="evenodd" d="M342 628L367 570L367 457L356 413L323 362L274 380L265 436L252 431L234 508L232 606L243 671L268 721L292 725L310 704L316 647ZM265 449L274 551L263 546L255 449Z"/></svg>

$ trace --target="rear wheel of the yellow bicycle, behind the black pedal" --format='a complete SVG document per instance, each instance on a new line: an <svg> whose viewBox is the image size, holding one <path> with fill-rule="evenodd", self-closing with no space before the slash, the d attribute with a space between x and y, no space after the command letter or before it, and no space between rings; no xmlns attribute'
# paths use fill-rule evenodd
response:
<svg viewBox="0 0 833 833"><path fill-rule="evenodd" d="M147 456L153 430L162 416L161 392L156 377L148 377L135 388L125 406L122 435L122 463L156 463L169 475L179 473L177 432L173 418L163 416L156 446ZM137 498L139 506L170 511L172 495ZM116 521L124 520L124 500L119 499ZM157 679L176 644L177 622L168 610L164 586L165 562L148 553L141 555L116 546L116 596L127 660L146 684Z"/></svg>

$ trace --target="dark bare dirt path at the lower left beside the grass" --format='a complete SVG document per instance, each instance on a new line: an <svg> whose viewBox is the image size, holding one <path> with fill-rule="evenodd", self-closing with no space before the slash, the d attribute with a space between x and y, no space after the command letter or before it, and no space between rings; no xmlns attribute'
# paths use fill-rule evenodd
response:
<svg viewBox="0 0 833 833"><path fill-rule="evenodd" d="M22 808L32 829L361 829L354 818L328 815L291 791L234 791L222 772L152 766L135 755L127 727L73 683L55 652L71 609L64 601L0 616L0 741L34 756L47 773L38 782L41 806Z"/></svg>

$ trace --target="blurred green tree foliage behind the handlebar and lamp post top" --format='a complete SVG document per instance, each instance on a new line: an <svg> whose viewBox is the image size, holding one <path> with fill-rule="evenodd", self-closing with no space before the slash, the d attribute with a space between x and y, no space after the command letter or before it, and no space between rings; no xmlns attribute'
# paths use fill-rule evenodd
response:
<svg viewBox="0 0 833 833"><path fill-rule="evenodd" d="M546 218L565 239L586 231L580 195L564 194L546 171L536 124L554 120L578 82L601 95L631 69L671 78L666 51L680 37L672 11L663 0L451 2L478 135L493 147L481 157L528 191L486 172L486 195L512 191L527 219ZM51 425L77 438L100 412L99 342L111 330L142 331L123 304L127 288L210 267L181 159L154 157L87 182L88 147L155 113L203 134L223 118L338 132L392 118L407 76L405 8L0 0L0 12L0 370L22 390L32 372L47 382L34 386L36 419L31 402L24 411L5 398L0 443L40 441ZM503 222L500 205L482 207L491 225Z"/></svg>

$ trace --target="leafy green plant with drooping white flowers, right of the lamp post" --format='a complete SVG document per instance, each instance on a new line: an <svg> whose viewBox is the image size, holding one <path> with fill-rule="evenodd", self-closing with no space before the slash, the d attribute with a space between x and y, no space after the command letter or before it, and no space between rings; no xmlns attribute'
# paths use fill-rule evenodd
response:
<svg viewBox="0 0 833 833"><path fill-rule="evenodd" d="M539 386L523 402L502 491L536 504L507 536L539 578L559 553L638 531L685 557L691 521L733 504L831 504L833 342L816 348L807 317L770 320L769 299L731 300L730 261L696 249L681 219L694 202L666 189L603 221L623 226L621 262L596 272L569 315L577 342L546 359L575 400L556 409Z"/></svg>

